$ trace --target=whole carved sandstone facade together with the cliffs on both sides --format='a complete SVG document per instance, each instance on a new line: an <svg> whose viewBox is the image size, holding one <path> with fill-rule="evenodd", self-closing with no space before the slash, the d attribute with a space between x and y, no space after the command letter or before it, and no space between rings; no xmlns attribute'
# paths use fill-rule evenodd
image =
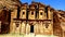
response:
<svg viewBox="0 0 65 37"><path fill-rule="evenodd" d="M10 1L10 2L8 2ZM65 11L32 1L0 1L0 34L65 36Z"/></svg>

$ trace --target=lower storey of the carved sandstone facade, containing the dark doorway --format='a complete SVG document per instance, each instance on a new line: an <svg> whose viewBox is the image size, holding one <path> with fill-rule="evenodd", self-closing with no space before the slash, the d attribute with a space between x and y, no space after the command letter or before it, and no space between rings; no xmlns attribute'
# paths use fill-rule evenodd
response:
<svg viewBox="0 0 65 37"><path fill-rule="evenodd" d="M53 35L53 24L51 21L13 21L11 33Z"/></svg>

